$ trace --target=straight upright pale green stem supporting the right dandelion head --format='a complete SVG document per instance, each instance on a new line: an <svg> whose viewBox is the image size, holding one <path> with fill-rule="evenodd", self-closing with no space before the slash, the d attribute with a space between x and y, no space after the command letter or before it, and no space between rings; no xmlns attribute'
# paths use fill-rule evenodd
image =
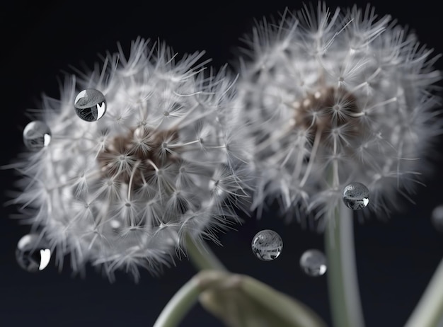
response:
<svg viewBox="0 0 443 327"><path fill-rule="evenodd" d="M325 231L329 299L335 327L364 326L355 265L352 213L340 201L328 217Z"/></svg>

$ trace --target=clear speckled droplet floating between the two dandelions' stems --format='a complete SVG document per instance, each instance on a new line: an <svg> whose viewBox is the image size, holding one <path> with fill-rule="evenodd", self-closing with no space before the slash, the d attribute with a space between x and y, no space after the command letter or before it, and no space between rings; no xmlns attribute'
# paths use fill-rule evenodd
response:
<svg viewBox="0 0 443 327"><path fill-rule="evenodd" d="M270 261L282 253L283 241L275 231L265 229L255 234L251 248L257 258L263 261Z"/></svg>

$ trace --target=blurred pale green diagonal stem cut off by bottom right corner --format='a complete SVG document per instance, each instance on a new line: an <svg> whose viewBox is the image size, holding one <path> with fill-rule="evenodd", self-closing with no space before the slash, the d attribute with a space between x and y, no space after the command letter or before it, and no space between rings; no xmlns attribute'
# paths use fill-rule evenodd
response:
<svg viewBox="0 0 443 327"><path fill-rule="evenodd" d="M443 259L405 327L437 327L443 316Z"/></svg>

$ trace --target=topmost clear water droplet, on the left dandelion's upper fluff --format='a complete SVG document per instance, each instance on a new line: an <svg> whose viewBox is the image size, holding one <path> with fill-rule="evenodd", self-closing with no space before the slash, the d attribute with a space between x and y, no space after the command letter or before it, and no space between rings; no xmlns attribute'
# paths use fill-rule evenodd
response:
<svg viewBox="0 0 443 327"><path fill-rule="evenodd" d="M106 113L106 99L100 91L86 88L76 96L74 108L82 120L95 122Z"/></svg>

